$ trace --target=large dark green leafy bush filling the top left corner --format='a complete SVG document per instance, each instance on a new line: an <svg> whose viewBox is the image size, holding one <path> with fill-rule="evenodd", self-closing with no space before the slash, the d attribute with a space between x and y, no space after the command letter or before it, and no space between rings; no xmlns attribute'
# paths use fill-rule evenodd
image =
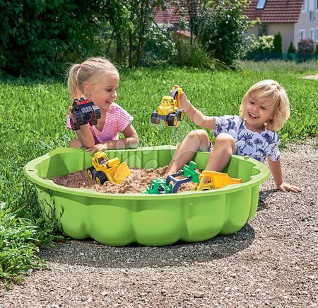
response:
<svg viewBox="0 0 318 308"><path fill-rule="evenodd" d="M0 1L0 69L13 76L51 75L65 62L97 53L102 0Z"/></svg>

